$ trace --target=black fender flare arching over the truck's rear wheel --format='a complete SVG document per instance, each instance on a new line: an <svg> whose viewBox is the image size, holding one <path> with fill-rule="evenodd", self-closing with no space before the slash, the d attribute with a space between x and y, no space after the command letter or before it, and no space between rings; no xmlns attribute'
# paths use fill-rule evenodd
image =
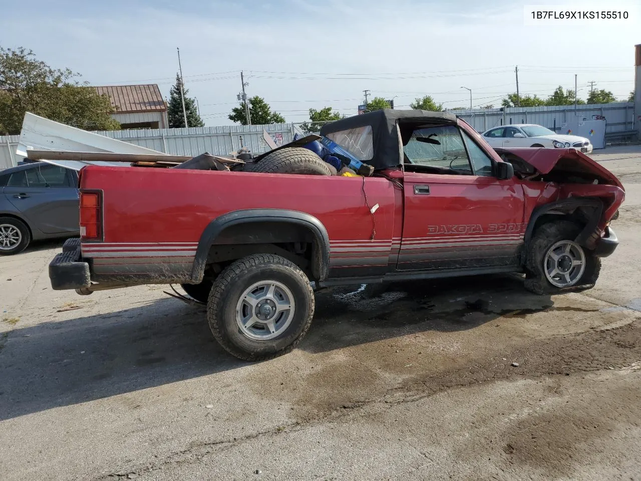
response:
<svg viewBox="0 0 641 481"><path fill-rule="evenodd" d="M201 235L196 249L196 258L192 266L191 282L200 283L203 280L204 269L209 251L216 237L228 227L236 224L252 222L286 222L303 226L312 231L318 246L320 265L318 280L325 280L329 273L329 235L325 226L313 215L287 209L246 209L235 210L216 217L211 221Z"/></svg>

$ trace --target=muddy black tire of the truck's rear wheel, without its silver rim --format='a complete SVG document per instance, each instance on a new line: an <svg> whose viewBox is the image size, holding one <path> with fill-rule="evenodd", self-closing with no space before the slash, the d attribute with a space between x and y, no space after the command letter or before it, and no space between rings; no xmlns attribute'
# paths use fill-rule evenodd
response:
<svg viewBox="0 0 641 481"><path fill-rule="evenodd" d="M247 308L241 298L247 299L247 289L252 286L271 282L285 286L292 296L292 317L283 324L282 332L276 337L251 339L246 333L247 329L242 329L239 324L242 323L243 309ZM249 297L254 301L263 299ZM231 355L243 360L260 361L288 353L301 342L312 323L314 306L312 286L298 266L278 255L256 254L237 260L219 274L209 295L207 319L213 337ZM260 305L256 309L260 310ZM276 319L276 325L278 319L284 319L280 316L277 314L272 317ZM269 334L266 325L265 333Z"/></svg>

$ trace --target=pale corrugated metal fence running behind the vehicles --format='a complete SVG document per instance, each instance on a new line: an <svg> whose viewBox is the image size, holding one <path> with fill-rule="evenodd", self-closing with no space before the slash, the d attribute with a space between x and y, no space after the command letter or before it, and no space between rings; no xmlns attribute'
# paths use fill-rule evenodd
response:
<svg viewBox="0 0 641 481"><path fill-rule="evenodd" d="M606 118L607 135L634 130L634 110L633 102L578 105L576 115L585 119L592 119L592 115L603 115ZM454 110L453 114L462 117L479 132L501 124L540 124L560 131L561 126L575 116L573 105ZM262 135L263 129L269 132L276 144L287 144L293 139L296 126L294 124L232 125L160 130L114 130L97 133L173 155L198 155L203 152L226 155L241 146L249 147L254 153L267 151L267 144ZM242 137L242 144L240 137ZM0 137L0 169L11 167L22 160L22 157L15 154L18 140L17 135Z"/></svg>

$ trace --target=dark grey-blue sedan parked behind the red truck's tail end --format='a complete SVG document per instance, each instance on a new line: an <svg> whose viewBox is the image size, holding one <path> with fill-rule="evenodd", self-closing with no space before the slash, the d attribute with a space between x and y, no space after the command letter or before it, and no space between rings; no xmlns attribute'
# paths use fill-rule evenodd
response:
<svg viewBox="0 0 641 481"><path fill-rule="evenodd" d="M79 234L78 173L45 162L0 172L0 255Z"/></svg>

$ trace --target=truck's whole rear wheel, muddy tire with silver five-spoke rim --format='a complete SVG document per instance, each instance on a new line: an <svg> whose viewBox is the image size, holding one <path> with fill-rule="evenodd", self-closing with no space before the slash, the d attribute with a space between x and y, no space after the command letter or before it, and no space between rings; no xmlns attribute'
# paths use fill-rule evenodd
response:
<svg viewBox="0 0 641 481"><path fill-rule="evenodd" d="M270 254L251 255L224 269L207 303L213 336L231 355L249 361L294 349L313 313L307 276L289 260Z"/></svg>

